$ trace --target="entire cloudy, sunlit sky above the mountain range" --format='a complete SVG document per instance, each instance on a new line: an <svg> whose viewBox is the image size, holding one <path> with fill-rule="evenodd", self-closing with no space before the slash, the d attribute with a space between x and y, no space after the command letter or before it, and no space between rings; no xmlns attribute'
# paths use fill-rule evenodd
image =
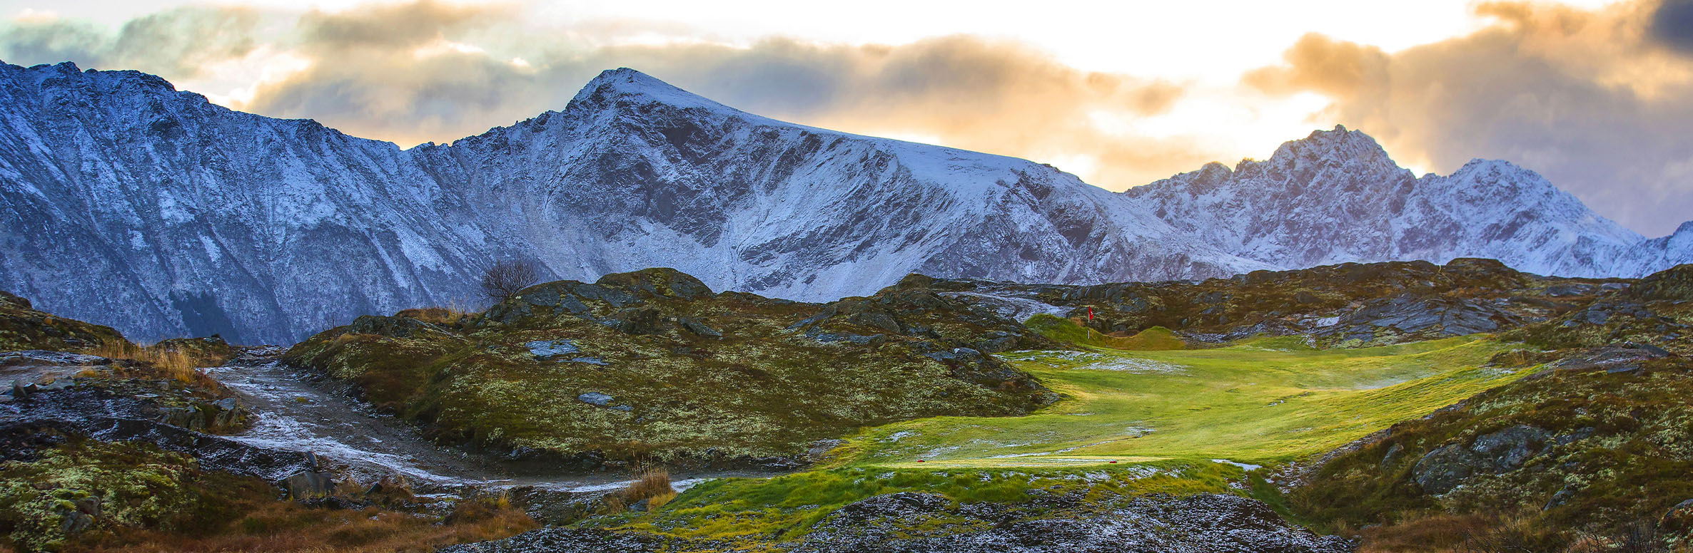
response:
<svg viewBox="0 0 1693 553"><path fill-rule="evenodd" d="M0 59L139 69L406 147L628 66L1107 189L1339 123L1419 174L1507 159L1644 235L1693 220L1693 0L0 0Z"/></svg>

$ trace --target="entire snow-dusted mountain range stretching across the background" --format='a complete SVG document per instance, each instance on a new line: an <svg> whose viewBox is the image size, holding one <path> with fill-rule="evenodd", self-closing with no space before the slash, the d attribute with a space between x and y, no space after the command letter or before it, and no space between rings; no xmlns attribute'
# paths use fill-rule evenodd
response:
<svg viewBox="0 0 1693 553"><path fill-rule="evenodd" d="M142 340L293 342L466 301L513 257L547 277L667 266L833 299L907 272L1087 284L1459 255L1639 276L1686 262L1693 240L1686 225L1644 240L1503 162L1415 179L1358 132L1116 194L1023 159L764 118L633 69L562 112L406 151L68 63L0 64L0 289Z"/></svg>

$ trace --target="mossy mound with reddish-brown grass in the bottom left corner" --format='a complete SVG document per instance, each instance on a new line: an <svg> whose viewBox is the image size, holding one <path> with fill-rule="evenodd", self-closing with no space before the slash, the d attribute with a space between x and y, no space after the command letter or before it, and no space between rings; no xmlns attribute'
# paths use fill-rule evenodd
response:
<svg viewBox="0 0 1693 553"><path fill-rule="evenodd" d="M432 551L532 528L499 499L467 499L445 517L416 506L313 509L141 443L68 436L0 463L0 550Z"/></svg>

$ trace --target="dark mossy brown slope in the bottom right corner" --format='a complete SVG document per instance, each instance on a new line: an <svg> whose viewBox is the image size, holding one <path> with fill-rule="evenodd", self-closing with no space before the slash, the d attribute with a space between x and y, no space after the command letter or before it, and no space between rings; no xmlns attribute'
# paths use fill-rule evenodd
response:
<svg viewBox="0 0 1693 553"><path fill-rule="evenodd" d="M1664 517L1693 497L1693 364L1644 362L1639 369L1549 370L1476 394L1461 408L1409 419L1383 436L1317 465L1290 506L1329 529L1385 524L1385 543L1417 534L1422 521L1502 529L1552 546L1583 534L1610 536ZM1444 496L1424 490L1417 467L1442 446L1471 446L1507 428L1536 428L1546 443L1520 467L1478 470ZM1527 512L1524 521L1517 514ZM1664 538L1688 539L1681 534ZM1424 546L1458 546L1458 536Z"/></svg>

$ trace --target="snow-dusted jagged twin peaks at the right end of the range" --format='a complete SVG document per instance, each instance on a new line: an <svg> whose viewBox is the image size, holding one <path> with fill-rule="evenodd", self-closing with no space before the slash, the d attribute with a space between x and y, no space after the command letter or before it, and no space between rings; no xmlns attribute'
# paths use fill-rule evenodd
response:
<svg viewBox="0 0 1693 553"><path fill-rule="evenodd" d="M1415 178L1344 127L1287 142L1266 161L1233 171L1212 162L1124 198L1226 252L1287 269L1492 257L1537 274L1642 276L1690 257L1674 237L1646 240L1534 171L1476 159L1449 176Z"/></svg>

